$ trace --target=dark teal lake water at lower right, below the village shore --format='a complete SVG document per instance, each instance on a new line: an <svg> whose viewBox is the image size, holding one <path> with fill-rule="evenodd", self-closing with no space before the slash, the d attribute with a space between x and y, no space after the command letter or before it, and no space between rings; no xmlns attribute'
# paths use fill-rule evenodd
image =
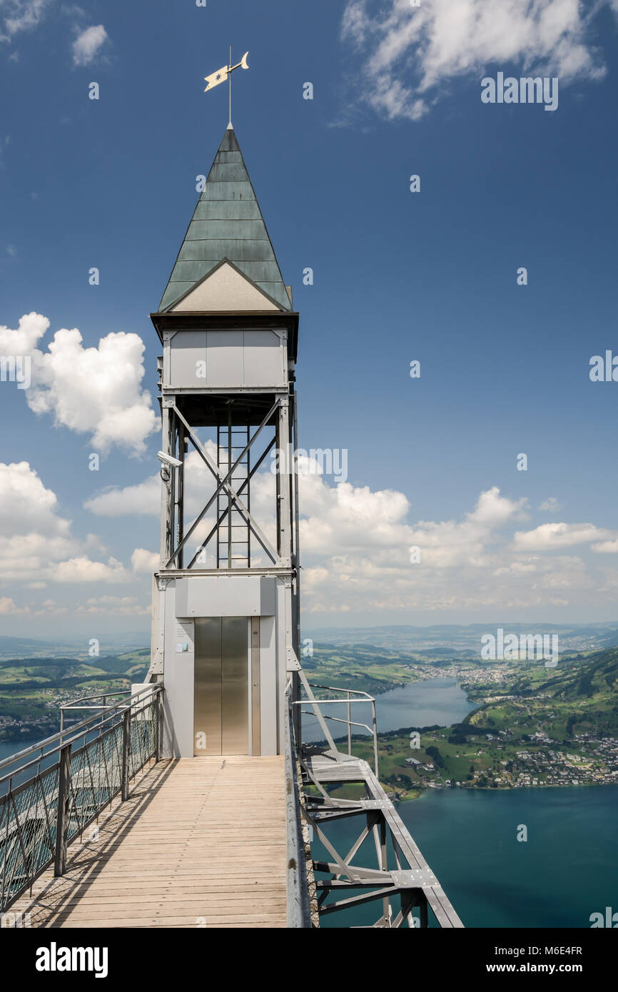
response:
<svg viewBox="0 0 618 992"><path fill-rule="evenodd" d="M614 786L431 789L397 809L466 927L589 928L591 913L618 911ZM342 854L356 836L351 820L328 830ZM320 925L367 926L376 905Z"/></svg>

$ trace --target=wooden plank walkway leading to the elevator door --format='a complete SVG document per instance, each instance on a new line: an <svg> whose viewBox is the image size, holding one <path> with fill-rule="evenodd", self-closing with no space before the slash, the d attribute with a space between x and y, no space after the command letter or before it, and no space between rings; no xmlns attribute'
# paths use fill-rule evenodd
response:
<svg viewBox="0 0 618 992"><path fill-rule="evenodd" d="M49 928L286 927L284 758L152 765L11 912Z"/></svg>

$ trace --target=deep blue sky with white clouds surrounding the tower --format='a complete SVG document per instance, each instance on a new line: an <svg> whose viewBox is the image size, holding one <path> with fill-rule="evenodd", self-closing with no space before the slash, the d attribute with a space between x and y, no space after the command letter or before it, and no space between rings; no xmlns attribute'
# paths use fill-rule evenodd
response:
<svg viewBox="0 0 618 992"><path fill-rule="evenodd" d="M618 383L589 361L618 354L617 4L457 10L0 0L0 351L24 314L50 321L19 338L44 355L34 392L0 383L0 632L148 627L158 520L127 492L157 472L148 314L227 124L202 79L230 42L250 52L234 127L301 311L301 442L348 451L346 482L304 487L306 624L615 616ZM483 104L498 71L557 76L556 111ZM54 359L61 328L82 342ZM126 512L84 506L110 491Z"/></svg>

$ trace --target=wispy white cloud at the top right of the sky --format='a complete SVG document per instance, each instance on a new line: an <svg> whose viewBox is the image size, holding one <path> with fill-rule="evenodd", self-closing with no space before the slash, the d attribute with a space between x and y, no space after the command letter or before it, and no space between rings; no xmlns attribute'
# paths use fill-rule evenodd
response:
<svg viewBox="0 0 618 992"><path fill-rule="evenodd" d="M598 0L592 13L616 0ZM361 99L388 119L418 120L451 80L491 64L560 83L605 74L592 13L578 0L347 0L342 40L360 56Z"/></svg>

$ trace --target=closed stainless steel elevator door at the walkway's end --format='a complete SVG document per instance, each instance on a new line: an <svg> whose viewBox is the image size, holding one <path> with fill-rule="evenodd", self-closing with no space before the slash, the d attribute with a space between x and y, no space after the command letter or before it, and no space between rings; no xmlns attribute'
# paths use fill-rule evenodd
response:
<svg viewBox="0 0 618 992"><path fill-rule="evenodd" d="M247 617L195 619L193 754L249 753Z"/></svg>

